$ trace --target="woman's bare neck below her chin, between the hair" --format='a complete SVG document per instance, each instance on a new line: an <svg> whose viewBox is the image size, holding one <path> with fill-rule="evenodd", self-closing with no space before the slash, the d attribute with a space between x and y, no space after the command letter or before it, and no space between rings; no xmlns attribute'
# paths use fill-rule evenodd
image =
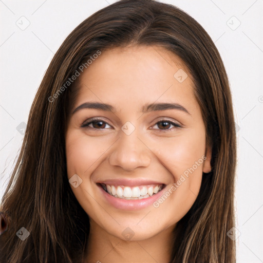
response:
<svg viewBox="0 0 263 263"><path fill-rule="evenodd" d="M90 219L90 234L84 262L168 263L173 249L174 227L168 227L148 239L122 240L107 233Z"/></svg>

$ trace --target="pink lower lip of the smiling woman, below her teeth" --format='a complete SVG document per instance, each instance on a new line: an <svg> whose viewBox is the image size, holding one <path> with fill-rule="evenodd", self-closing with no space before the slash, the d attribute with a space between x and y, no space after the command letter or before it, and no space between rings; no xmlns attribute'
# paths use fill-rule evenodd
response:
<svg viewBox="0 0 263 263"><path fill-rule="evenodd" d="M159 191L157 194L154 194L148 198L144 199L137 199L137 200L126 200L118 197L114 197L110 195L108 192L106 192L102 186L99 184L98 185L100 191L102 192L103 196L105 199L113 205L117 209L122 209L122 210L140 210L143 208L146 208L149 205L152 205L158 198L161 197L163 190L165 187Z"/></svg>

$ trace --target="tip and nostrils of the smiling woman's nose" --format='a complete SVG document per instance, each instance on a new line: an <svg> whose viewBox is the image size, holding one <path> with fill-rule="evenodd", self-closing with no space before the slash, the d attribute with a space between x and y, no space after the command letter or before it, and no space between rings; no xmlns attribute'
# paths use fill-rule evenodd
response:
<svg viewBox="0 0 263 263"><path fill-rule="evenodd" d="M122 167L125 171L147 167L151 163L151 150L137 137L136 129L130 135L120 131L120 138L110 154L109 163Z"/></svg>

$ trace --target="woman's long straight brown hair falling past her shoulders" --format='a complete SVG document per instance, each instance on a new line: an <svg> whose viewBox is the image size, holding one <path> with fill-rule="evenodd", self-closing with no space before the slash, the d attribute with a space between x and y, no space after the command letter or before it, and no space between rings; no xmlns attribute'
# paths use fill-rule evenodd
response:
<svg viewBox="0 0 263 263"><path fill-rule="evenodd" d="M83 61L127 45L159 45L185 63L212 146L212 171L189 212L174 229L170 262L235 262L236 133L232 97L219 52L206 31L179 8L153 0L121 0L89 16L52 59L33 101L21 153L1 211L1 262L81 262L89 217L74 197L66 171L65 129L76 82L57 93ZM52 97L54 98L54 97ZM22 241L16 233L30 234ZM24 260L24 261L23 261Z"/></svg>

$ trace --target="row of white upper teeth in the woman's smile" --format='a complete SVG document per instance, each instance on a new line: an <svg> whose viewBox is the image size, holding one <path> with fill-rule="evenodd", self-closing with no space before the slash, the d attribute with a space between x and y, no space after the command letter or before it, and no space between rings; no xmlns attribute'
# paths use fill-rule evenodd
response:
<svg viewBox="0 0 263 263"><path fill-rule="evenodd" d="M110 195L125 199L142 199L152 196L161 190L162 184L158 185L140 185L134 186L133 188L129 186L114 186L109 184L102 184L102 187Z"/></svg>

